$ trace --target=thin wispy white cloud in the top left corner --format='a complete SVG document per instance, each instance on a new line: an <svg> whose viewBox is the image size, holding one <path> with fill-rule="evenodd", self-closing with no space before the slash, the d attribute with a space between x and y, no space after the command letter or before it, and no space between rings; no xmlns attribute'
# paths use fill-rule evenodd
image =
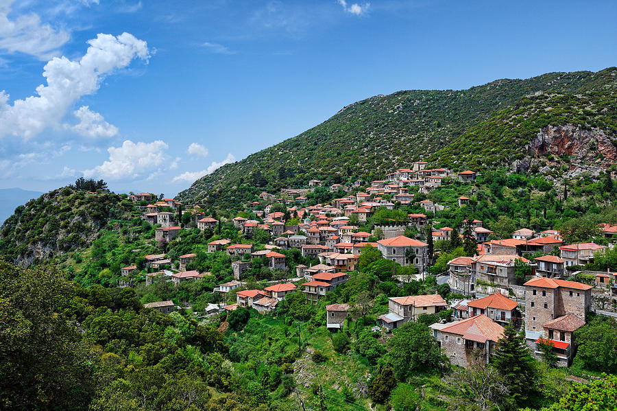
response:
<svg viewBox="0 0 617 411"><path fill-rule="evenodd" d="M38 14L24 14L10 20L14 0L0 0L0 49L21 52L47 60L58 54L58 48L69 41L64 30L42 24Z"/></svg>

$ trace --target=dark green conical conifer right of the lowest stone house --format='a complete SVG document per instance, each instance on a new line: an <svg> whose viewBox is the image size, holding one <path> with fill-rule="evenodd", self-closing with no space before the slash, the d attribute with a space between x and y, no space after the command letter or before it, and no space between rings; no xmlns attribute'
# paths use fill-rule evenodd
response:
<svg viewBox="0 0 617 411"><path fill-rule="evenodd" d="M505 326L503 337L497 342L492 364L503 377L514 401L522 405L533 392L536 372L524 336L517 334L511 323Z"/></svg>

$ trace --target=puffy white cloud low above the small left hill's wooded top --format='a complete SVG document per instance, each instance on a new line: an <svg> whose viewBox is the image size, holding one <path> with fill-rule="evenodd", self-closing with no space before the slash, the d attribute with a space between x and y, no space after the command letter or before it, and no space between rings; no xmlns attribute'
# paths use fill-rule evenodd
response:
<svg viewBox="0 0 617 411"><path fill-rule="evenodd" d="M136 179L165 167L167 148L167 143L161 140L152 143L133 143L126 140L120 147L108 148L109 160L93 169L85 170L84 176L98 176L107 180Z"/></svg>

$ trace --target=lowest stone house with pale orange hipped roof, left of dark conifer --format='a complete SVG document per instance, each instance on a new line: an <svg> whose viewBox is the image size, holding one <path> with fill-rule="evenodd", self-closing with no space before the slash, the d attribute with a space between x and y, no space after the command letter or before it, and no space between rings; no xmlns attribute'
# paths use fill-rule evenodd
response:
<svg viewBox="0 0 617 411"><path fill-rule="evenodd" d="M503 337L503 327L480 314L466 320L431 325L433 337L452 364L468 368L477 360L488 364Z"/></svg>

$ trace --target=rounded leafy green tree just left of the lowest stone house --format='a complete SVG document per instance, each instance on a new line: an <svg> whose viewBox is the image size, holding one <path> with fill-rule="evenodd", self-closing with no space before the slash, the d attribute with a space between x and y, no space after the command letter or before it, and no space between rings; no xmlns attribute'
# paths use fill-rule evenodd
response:
<svg viewBox="0 0 617 411"><path fill-rule="evenodd" d="M443 370L448 358L441 353L431 331L422 322L407 322L388 340L389 357L396 377L404 381L413 371Z"/></svg>

